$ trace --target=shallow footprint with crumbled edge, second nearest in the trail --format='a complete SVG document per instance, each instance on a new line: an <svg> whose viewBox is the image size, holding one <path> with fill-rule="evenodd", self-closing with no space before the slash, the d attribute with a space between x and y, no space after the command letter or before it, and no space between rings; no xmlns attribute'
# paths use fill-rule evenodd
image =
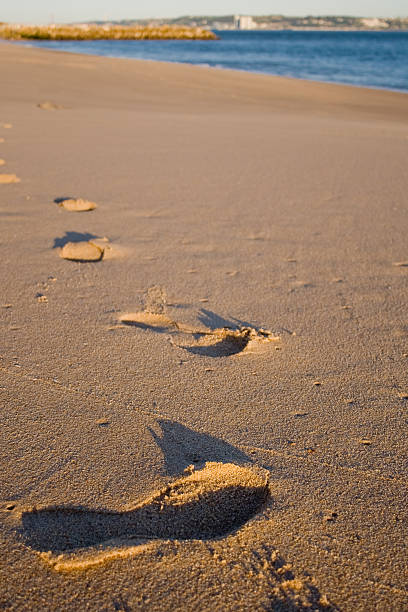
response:
<svg viewBox="0 0 408 612"><path fill-rule="evenodd" d="M170 319L164 309L152 312L147 305L144 311L125 313L119 317L122 325L169 333L177 339L175 346L205 357L259 353L280 339L268 330L242 321L230 322L205 309L200 310L199 320L206 327L190 327L178 323ZM216 326L219 323L222 327Z"/></svg>

